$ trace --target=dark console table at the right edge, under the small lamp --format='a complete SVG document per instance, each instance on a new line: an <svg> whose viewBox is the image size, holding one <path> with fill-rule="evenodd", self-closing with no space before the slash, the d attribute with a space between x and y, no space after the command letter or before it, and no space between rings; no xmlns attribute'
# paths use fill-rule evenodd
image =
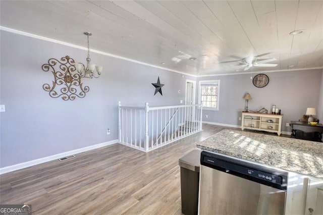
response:
<svg viewBox="0 0 323 215"><path fill-rule="evenodd" d="M306 122L291 121L291 138L322 142L323 125L312 126Z"/></svg>

